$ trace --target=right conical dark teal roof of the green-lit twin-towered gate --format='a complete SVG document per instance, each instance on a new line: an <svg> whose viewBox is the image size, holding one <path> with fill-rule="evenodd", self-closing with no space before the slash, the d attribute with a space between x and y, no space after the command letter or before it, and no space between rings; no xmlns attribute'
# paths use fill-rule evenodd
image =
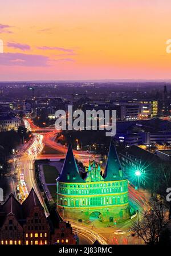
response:
<svg viewBox="0 0 171 256"><path fill-rule="evenodd" d="M115 144L111 141L111 145L109 147L107 164L105 166L104 181L114 181L114 180L124 180L123 172L121 171L121 164L119 161L119 157L116 152Z"/></svg>

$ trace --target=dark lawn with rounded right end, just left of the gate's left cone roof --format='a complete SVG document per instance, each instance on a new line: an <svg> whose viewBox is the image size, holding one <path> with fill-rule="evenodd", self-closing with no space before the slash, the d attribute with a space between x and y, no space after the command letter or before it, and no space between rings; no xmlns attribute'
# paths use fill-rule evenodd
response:
<svg viewBox="0 0 171 256"><path fill-rule="evenodd" d="M56 178L58 178L59 172L55 168L55 166L44 164L43 172L44 172L44 179L46 183L56 183Z"/></svg>

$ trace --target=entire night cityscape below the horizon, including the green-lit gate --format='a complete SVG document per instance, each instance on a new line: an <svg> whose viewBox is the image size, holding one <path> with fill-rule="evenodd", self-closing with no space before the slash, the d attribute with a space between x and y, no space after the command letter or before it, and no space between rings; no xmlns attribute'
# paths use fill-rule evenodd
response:
<svg viewBox="0 0 171 256"><path fill-rule="evenodd" d="M170 83L1 84L0 246L170 243ZM115 110L116 135L71 130L71 105Z"/></svg>

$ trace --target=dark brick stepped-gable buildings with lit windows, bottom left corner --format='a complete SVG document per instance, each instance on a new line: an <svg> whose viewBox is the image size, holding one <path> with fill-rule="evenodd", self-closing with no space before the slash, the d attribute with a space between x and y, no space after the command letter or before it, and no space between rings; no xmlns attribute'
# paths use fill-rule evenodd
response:
<svg viewBox="0 0 171 256"><path fill-rule="evenodd" d="M34 189L20 204L13 194L0 205L0 245L75 244L72 227L55 211L46 218Z"/></svg>

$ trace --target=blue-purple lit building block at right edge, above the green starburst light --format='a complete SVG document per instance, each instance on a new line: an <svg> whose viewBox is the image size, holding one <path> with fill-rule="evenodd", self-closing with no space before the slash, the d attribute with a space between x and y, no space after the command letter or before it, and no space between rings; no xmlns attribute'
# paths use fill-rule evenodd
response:
<svg viewBox="0 0 171 256"><path fill-rule="evenodd" d="M171 144L171 123L168 120L150 119L118 122L115 136L117 143L125 146L144 145L146 147L169 146Z"/></svg>

